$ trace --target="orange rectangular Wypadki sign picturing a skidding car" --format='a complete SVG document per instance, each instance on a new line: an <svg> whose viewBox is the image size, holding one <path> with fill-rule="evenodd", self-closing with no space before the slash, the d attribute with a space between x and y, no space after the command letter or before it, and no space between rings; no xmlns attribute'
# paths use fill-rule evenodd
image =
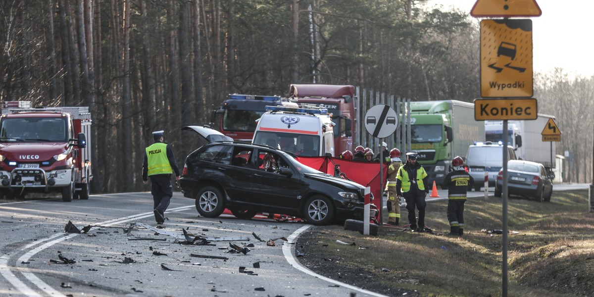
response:
<svg viewBox="0 0 594 297"><path fill-rule="evenodd" d="M532 20L482 20L481 97L532 94Z"/></svg>

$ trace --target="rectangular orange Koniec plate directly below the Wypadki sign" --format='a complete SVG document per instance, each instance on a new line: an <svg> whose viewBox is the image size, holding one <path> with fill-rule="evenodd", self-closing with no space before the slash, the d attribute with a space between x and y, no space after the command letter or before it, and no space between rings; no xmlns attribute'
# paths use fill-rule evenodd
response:
<svg viewBox="0 0 594 297"><path fill-rule="evenodd" d="M475 99L475 120L536 119L536 99Z"/></svg>

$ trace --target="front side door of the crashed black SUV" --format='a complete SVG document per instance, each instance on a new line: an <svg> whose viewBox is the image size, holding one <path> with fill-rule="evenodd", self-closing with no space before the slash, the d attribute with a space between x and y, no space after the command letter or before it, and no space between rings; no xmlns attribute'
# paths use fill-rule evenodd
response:
<svg viewBox="0 0 594 297"><path fill-rule="evenodd" d="M295 213L301 203L301 189L304 187L299 172L287 162L284 154L259 149L257 156L255 162L258 169L250 179L255 191L251 203ZM281 167L288 168L293 174L280 174Z"/></svg>

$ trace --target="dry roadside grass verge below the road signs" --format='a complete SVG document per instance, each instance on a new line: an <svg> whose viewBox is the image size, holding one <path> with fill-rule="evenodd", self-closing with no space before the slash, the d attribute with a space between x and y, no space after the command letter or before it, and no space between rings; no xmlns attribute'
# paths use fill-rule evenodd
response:
<svg viewBox="0 0 594 297"><path fill-rule="evenodd" d="M426 225L449 232L447 201L426 208ZM594 214L587 190L554 192L550 203L508 199L508 295L593 296ZM408 222L401 211L401 225ZM381 227L365 236L342 226L310 228L299 260L332 279L390 296L501 296L501 198L466 202L463 238ZM386 222L387 220L384 220ZM480 236L480 237L479 237ZM343 245L336 241L354 243Z"/></svg>

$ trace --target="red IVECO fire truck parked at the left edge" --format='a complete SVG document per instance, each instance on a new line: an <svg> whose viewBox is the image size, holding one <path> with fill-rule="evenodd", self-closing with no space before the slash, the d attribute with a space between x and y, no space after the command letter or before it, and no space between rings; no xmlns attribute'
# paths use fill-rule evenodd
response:
<svg viewBox="0 0 594 297"><path fill-rule="evenodd" d="M67 202L89 199L90 129L87 107L30 108L30 102L5 102L0 194L24 198L30 192L60 192Z"/></svg>

